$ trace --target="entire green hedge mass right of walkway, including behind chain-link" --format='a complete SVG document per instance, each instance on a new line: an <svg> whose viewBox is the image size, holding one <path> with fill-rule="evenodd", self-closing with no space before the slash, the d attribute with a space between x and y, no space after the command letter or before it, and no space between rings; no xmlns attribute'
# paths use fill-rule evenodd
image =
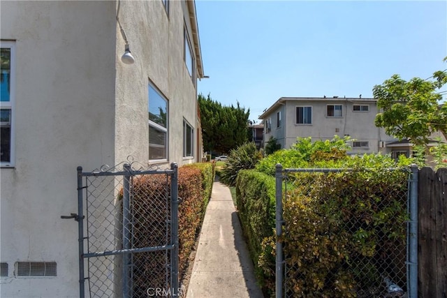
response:
<svg viewBox="0 0 447 298"><path fill-rule="evenodd" d="M316 156L330 154L333 149L317 144L320 150L316 150L309 141L272 154L272 171L276 163L295 167L343 165L351 170L289 174L284 200L287 233L280 239L288 260L288 295L357 297L358 287L364 283L381 288L381 274L405 271L404 257L397 255L402 250L395 248L405 247L408 172L404 169L413 160L402 158L396 163L389 156L369 154L336 156L334 161L332 156L325 160L328 156L323 154L323 160L317 161ZM302 147L314 152L305 155L308 161L303 158ZM262 162L256 170L260 165ZM275 185L271 170L265 171L268 174L256 170L239 172L237 206L256 276L270 295L275 284ZM367 270L358 269L359 264ZM404 280L405 276L398 278Z"/></svg>

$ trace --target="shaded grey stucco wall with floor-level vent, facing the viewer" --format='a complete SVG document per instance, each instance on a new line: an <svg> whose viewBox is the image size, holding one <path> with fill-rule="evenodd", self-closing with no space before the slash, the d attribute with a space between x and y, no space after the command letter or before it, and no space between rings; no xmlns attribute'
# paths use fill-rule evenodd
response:
<svg viewBox="0 0 447 298"><path fill-rule="evenodd" d="M1 169L1 297L78 297L76 167L112 164L113 1L1 1L15 40L14 168ZM92 169L91 169L92 170ZM57 276L15 278L17 261L57 262Z"/></svg>

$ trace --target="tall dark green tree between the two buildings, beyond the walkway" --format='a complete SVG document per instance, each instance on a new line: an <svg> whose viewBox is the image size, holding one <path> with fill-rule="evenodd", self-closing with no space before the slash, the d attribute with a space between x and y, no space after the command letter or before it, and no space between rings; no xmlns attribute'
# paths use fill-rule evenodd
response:
<svg viewBox="0 0 447 298"><path fill-rule="evenodd" d="M227 153L248 141L249 113L240 104L226 107L207 98L198 96L202 125L203 149Z"/></svg>

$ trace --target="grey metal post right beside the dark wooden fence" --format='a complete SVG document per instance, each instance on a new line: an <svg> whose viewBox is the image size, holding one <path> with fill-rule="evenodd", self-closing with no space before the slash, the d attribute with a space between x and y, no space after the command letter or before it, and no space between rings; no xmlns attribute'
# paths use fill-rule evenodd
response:
<svg viewBox="0 0 447 298"><path fill-rule="evenodd" d="M409 188L409 256L408 265L408 295L409 298L418 297L418 166L411 165L411 179Z"/></svg>

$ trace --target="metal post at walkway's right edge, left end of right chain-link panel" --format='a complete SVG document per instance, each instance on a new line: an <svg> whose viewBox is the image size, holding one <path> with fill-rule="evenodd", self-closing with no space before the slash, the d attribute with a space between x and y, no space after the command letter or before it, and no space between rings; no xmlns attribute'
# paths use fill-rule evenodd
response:
<svg viewBox="0 0 447 298"><path fill-rule="evenodd" d="M282 165L277 163L276 172L274 174L276 177L276 230L277 230L277 254L276 254L276 283L275 292L276 298L282 297L283 289L283 256L282 256L282 242L279 237L282 234L282 225L284 223L282 219Z"/></svg>

